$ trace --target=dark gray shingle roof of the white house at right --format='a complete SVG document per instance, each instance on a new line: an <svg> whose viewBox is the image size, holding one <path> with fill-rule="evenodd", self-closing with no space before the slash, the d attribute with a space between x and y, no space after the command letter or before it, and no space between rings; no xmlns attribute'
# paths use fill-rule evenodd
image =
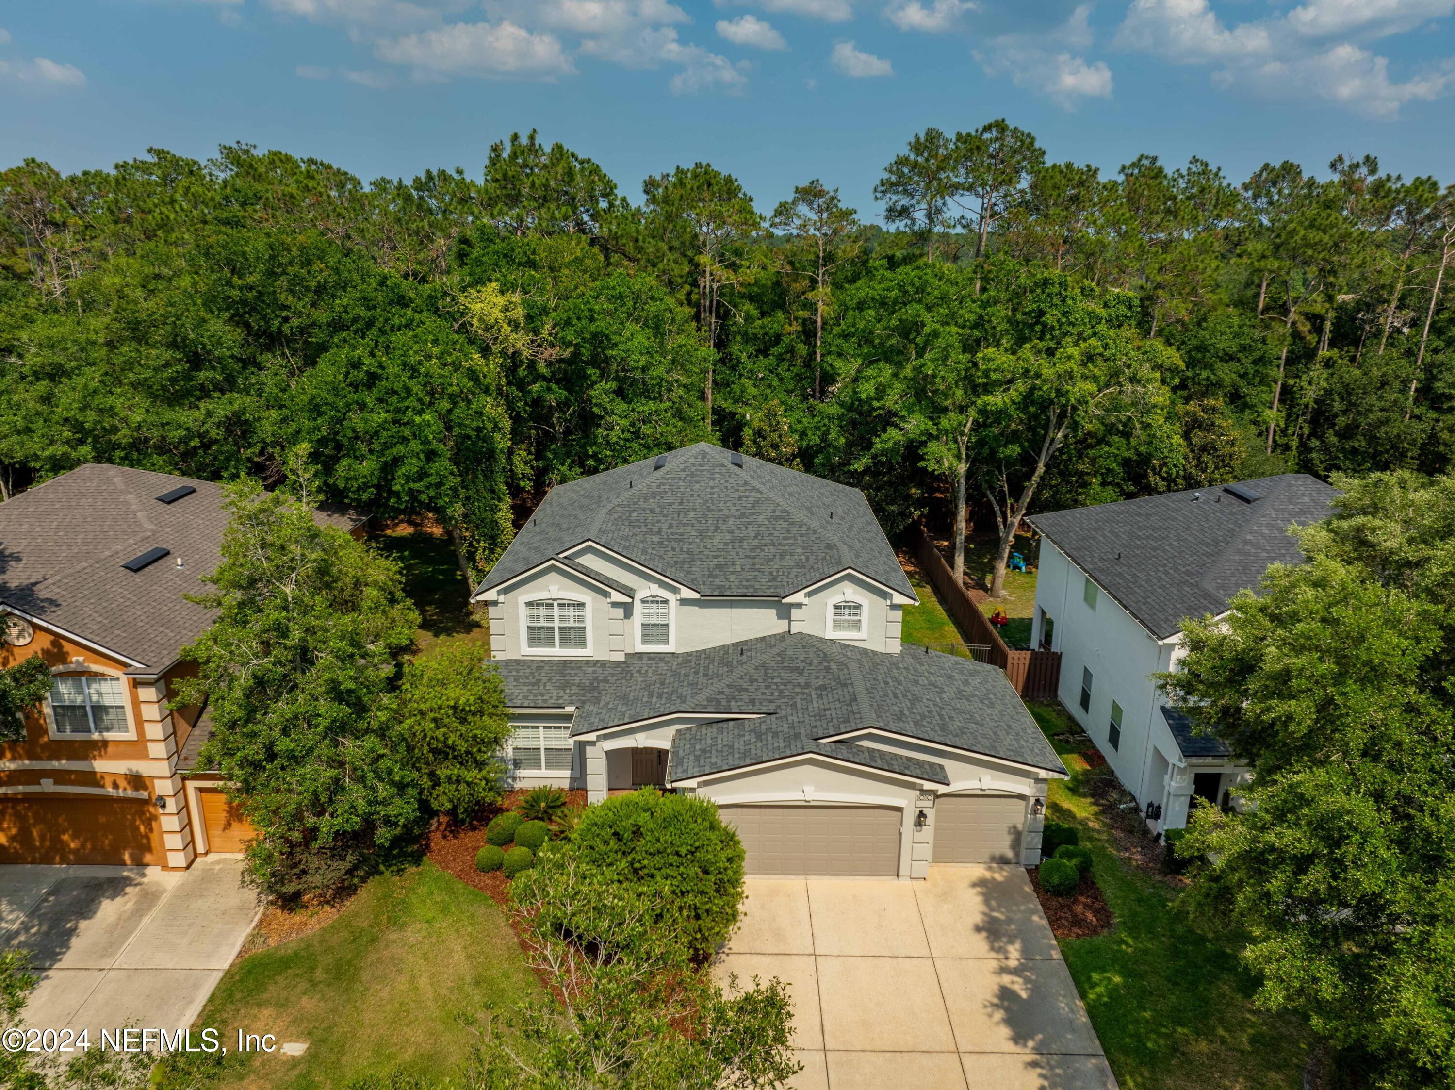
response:
<svg viewBox="0 0 1455 1090"><path fill-rule="evenodd" d="M1219 486L1051 511L1027 521L1165 639L1181 630L1184 617L1222 613L1238 591L1257 589L1269 565L1301 563L1289 525L1327 518L1337 496L1307 473L1238 486L1261 498L1244 504Z"/></svg>

